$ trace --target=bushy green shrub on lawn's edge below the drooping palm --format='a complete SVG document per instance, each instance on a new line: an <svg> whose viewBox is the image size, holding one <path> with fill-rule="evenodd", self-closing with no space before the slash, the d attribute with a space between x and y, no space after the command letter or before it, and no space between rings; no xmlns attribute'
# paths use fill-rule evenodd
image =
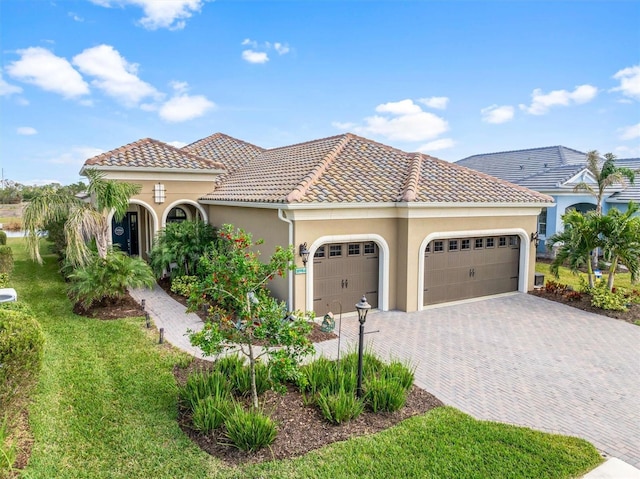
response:
<svg viewBox="0 0 640 479"><path fill-rule="evenodd" d="M104 299L122 299L128 288L150 288L155 283L147 263L115 250L109 251L104 259L94 256L86 266L71 273L69 279L69 296L84 308Z"/></svg>

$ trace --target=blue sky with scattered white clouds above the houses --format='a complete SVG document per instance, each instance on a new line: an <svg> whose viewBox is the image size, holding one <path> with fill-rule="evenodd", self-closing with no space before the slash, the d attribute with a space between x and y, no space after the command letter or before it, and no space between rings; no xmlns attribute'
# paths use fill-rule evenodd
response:
<svg viewBox="0 0 640 479"><path fill-rule="evenodd" d="M2 0L0 47L0 166L24 184L215 132L640 156L640 1Z"/></svg>

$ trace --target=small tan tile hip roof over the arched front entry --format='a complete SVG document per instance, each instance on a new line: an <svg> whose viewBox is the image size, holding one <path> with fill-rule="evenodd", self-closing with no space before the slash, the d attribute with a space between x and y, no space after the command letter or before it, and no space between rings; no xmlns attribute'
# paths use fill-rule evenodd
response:
<svg viewBox="0 0 640 479"><path fill-rule="evenodd" d="M223 170L217 161L202 158L151 138L144 138L84 162L85 167L127 167L184 170Z"/></svg>

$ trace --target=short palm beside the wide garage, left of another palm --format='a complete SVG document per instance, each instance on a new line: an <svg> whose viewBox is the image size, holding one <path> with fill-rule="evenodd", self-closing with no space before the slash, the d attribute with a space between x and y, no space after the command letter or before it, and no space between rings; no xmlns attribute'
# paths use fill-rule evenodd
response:
<svg viewBox="0 0 640 479"><path fill-rule="evenodd" d="M589 286L594 286L593 268L589 256L599 245L600 216L593 211L582 214L569 210L562 215L564 230L549 238L550 247L560 245L558 253L551 263L550 271L556 277L565 262L573 273L578 273L581 266L587 267Z"/></svg>

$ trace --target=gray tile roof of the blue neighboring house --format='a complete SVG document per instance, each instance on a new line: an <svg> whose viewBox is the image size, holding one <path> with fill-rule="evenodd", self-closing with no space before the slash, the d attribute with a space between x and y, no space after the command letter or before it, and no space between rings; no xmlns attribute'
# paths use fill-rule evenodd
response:
<svg viewBox="0 0 640 479"><path fill-rule="evenodd" d="M559 169L569 165L584 166L587 154L564 146L547 146L528 150L501 151L473 155L456 162L456 164L482 171L488 175L502 178L519 185L535 183L536 189L553 189L559 176L569 169ZM579 171L576 170L577 173ZM545 182L533 178L543 173ZM573 176L573 175L572 175Z"/></svg>

